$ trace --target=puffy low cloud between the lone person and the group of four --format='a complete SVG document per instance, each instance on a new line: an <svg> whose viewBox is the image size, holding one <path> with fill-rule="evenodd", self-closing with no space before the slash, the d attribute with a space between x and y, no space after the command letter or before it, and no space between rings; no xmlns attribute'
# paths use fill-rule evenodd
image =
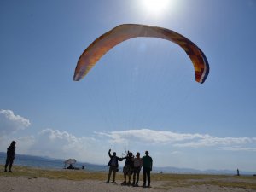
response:
<svg viewBox="0 0 256 192"><path fill-rule="evenodd" d="M27 151L40 156L102 163L102 158L96 159L102 156L100 141L93 137L75 137L67 131L44 129L34 137L34 143Z"/></svg>

